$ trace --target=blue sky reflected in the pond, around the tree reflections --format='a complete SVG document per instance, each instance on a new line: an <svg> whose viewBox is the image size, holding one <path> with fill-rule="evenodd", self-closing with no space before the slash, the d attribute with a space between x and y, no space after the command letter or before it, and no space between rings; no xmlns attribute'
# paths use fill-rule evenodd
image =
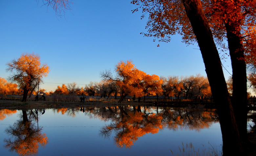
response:
<svg viewBox="0 0 256 156"><path fill-rule="evenodd" d="M19 118L20 112L17 111L0 121L1 155L11 155L8 149L3 147L3 139L8 137L4 129ZM200 131L188 128L173 131L163 128L156 134L147 133L139 137L131 148L120 148L114 142L115 132L112 132L109 139L99 135L100 129L110 124L110 121L104 122L88 115L79 111L72 117L52 109L46 109L43 115L39 112L39 126L43 127L42 133L47 135L49 142L44 148L39 147L37 155L172 155L170 149L176 155L179 153L179 147L182 147L182 142L184 145L192 142L195 150L206 148L207 152L211 145L221 150L222 135L219 123L213 123L209 128Z"/></svg>

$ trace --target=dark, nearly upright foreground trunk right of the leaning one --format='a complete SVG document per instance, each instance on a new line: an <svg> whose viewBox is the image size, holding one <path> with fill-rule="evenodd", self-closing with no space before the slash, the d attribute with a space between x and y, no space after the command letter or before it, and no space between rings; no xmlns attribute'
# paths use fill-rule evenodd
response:
<svg viewBox="0 0 256 156"><path fill-rule="evenodd" d="M245 143L247 141L247 77L244 48L239 37L240 32L229 23L226 23L225 27L233 70L232 106L241 141Z"/></svg>

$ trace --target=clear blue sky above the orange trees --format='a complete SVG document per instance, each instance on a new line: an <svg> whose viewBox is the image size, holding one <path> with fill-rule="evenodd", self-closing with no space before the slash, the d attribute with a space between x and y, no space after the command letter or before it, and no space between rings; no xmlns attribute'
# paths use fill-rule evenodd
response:
<svg viewBox="0 0 256 156"><path fill-rule="evenodd" d="M141 10L132 13L137 6L129 0L75 0L61 18L43 6L43 0L37 1L0 1L0 77L7 79L6 63L22 52L37 53L50 66L40 86L47 91L62 83L84 87L99 82L100 71L114 71L118 62L126 60L147 74L206 76L197 43L187 46L179 35L169 43L143 37L140 32L146 32L147 19L140 19ZM232 73L229 60L223 64Z"/></svg>

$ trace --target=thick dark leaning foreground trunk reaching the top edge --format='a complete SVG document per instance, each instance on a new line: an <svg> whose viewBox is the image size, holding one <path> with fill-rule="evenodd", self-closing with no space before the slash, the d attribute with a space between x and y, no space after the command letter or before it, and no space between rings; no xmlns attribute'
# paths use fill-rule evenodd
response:
<svg viewBox="0 0 256 156"><path fill-rule="evenodd" d="M200 47L205 71L217 107L222 131L223 154L241 155L243 149L227 91L220 57L203 13L201 1L182 0L182 2Z"/></svg>

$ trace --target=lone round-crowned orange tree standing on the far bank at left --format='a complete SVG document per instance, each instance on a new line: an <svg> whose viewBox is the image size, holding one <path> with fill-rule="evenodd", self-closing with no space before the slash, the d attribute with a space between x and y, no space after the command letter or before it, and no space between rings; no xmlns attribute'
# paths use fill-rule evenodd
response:
<svg viewBox="0 0 256 156"><path fill-rule="evenodd" d="M34 85L42 82L50 71L47 64L40 62L40 56L34 53L23 53L20 58L7 63L7 71L12 72L10 79L23 89L22 102L26 102L29 91Z"/></svg>

